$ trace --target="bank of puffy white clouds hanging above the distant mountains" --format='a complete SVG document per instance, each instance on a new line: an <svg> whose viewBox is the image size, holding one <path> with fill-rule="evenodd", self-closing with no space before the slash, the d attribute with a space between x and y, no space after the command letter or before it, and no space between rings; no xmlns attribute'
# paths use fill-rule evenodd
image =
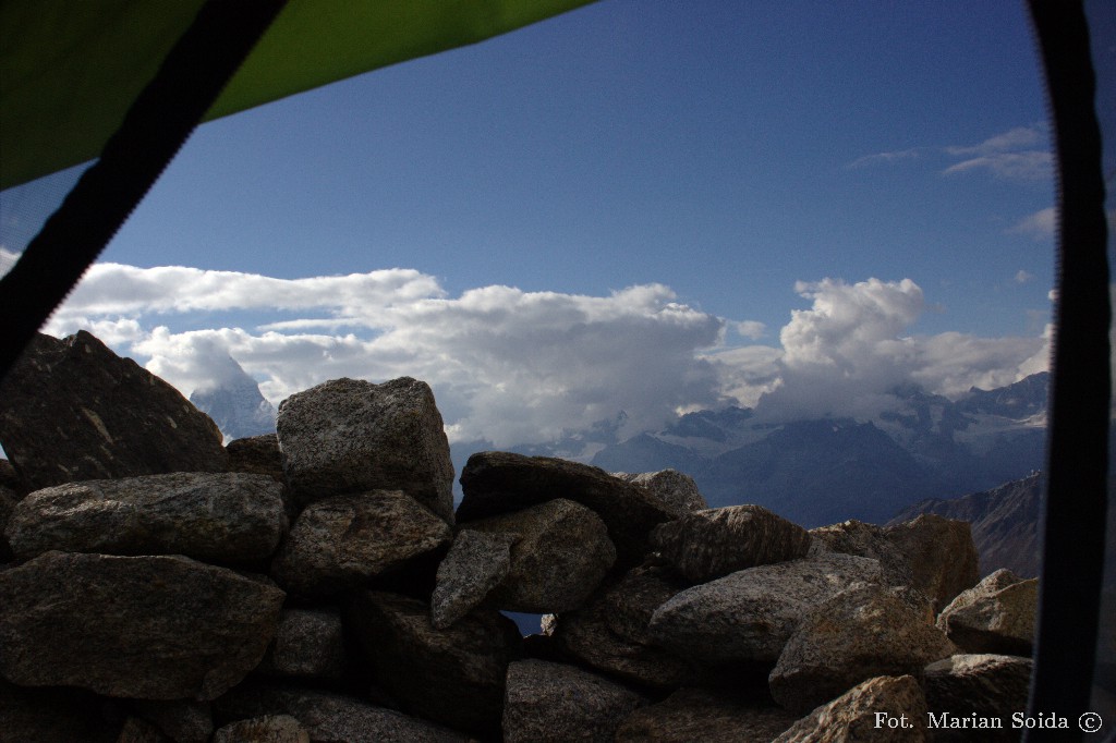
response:
<svg viewBox="0 0 1116 743"><path fill-rule="evenodd" d="M926 307L911 279L795 291L810 307L790 313L776 346L750 342L771 335L762 324L679 303L658 283L450 297L411 269L278 279L100 263L47 330L88 329L185 395L238 365L276 404L341 376L413 376L434 388L451 441L496 446L552 441L620 411L622 436L725 404L771 418L874 415L899 384L955 395L1046 368L1046 336L905 335ZM727 345L730 329L743 345Z"/></svg>

